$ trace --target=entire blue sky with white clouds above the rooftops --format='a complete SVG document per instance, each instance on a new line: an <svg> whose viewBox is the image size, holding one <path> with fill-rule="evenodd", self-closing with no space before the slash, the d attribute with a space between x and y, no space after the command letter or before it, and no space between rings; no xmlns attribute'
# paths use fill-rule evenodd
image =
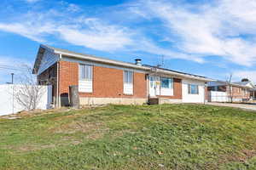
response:
<svg viewBox="0 0 256 170"><path fill-rule="evenodd" d="M255 0L2 0L0 83L40 44L256 82Z"/></svg>

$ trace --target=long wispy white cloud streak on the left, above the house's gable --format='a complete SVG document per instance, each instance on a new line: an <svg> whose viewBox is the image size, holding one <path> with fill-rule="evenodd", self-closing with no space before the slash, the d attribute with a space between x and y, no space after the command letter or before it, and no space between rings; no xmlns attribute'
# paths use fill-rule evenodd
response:
<svg viewBox="0 0 256 170"><path fill-rule="evenodd" d="M131 34L124 27L102 24L100 20L86 19L67 23L49 20L0 23L0 30L28 37L37 42L47 42L47 36L58 36L66 42L102 51L124 48L131 43Z"/></svg>

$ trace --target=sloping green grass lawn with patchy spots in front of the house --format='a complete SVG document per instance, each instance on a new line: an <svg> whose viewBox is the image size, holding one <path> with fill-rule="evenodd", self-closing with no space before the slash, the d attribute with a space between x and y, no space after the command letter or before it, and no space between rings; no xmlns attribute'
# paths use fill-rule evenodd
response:
<svg viewBox="0 0 256 170"><path fill-rule="evenodd" d="M0 169L256 169L256 112L108 105L0 119Z"/></svg>

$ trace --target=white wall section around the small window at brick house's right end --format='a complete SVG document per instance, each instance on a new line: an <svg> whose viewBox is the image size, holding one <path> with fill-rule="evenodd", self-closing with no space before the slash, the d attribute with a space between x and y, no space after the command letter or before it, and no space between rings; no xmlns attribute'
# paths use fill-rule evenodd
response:
<svg viewBox="0 0 256 170"><path fill-rule="evenodd" d="M199 94L189 94L188 84L198 85ZM203 103L205 100L205 82L183 79L182 80L183 88L183 102L184 103Z"/></svg>

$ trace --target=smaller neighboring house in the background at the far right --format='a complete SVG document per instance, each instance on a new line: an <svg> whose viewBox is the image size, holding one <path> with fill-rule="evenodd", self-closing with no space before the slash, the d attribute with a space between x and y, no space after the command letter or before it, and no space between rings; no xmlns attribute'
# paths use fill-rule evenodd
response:
<svg viewBox="0 0 256 170"><path fill-rule="evenodd" d="M252 82L208 82L208 101L210 102L234 102L247 101L252 98ZM230 91L231 90L231 91Z"/></svg>

